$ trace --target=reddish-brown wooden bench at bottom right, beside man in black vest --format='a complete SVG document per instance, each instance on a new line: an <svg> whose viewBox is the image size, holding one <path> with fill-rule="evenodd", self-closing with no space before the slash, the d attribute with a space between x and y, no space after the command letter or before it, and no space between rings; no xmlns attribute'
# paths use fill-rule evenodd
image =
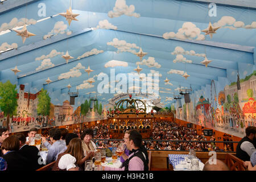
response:
<svg viewBox="0 0 256 182"><path fill-rule="evenodd" d="M226 154L225 163L230 171L247 171L243 166L243 160L237 158L237 156L233 154Z"/></svg>

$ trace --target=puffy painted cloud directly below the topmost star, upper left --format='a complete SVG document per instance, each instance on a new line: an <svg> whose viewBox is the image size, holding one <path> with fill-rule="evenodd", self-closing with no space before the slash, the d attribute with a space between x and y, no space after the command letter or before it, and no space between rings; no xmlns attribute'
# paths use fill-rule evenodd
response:
<svg viewBox="0 0 256 182"><path fill-rule="evenodd" d="M51 32L48 32L47 35L44 35L43 39L46 40L47 38L50 38L51 36L55 36L58 34L71 35L72 32L69 31L67 28L68 28L68 25L64 24L63 21L56 22L54 25L54 28L51 30Z"/></svg>

